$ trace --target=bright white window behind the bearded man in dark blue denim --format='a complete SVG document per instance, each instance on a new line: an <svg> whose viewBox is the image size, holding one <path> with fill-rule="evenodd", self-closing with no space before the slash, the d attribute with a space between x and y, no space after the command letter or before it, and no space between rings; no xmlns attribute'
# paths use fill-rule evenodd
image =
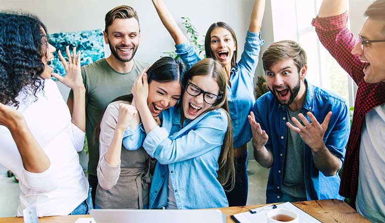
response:
<svg viewBox="0 0 385 223"><path fill-rule="evenodd" d="M274 42L294 40L307 54L306 79L354 105L353 82L318 40L312 19L322 0L272 0Z"/></svg>

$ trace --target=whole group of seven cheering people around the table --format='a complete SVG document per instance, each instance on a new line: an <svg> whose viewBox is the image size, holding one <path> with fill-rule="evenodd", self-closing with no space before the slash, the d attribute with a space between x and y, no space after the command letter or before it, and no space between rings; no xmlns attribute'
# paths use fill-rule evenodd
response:
<svg viewBox="0 0 385 223"><path fill-rule="evenodd" d="M252 140L255 160L270 168L267 203L345 197L368 219L385 219L384 0L366 10L358 40L347 0L324 0L312 22L358 85L352 130L346 102L305 79L306 53L294 41L263 52L270 92L255 101L264 0L254 1L240 60L228 24L209 27L201 60L163 1L152 3L180 59L135 60L138 15L119 6L105 16L111 55L81 67L75 48L67 61L58 51L64 77L48 65L56 49L45 25L0 12L0 163L20 179L18 216L29 206L50 216L245 205ZM67 104L51 76L71 89ZM88 180L76 153L85 136Z"/></svg>

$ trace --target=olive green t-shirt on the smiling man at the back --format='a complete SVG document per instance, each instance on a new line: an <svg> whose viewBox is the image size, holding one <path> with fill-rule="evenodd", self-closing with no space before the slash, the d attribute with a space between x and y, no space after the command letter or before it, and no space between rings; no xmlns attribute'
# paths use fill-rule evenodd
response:
<svg viewBox="0 0 385 223"><path fill-rule="evenodd" d="M103 58L82 67L83 83L86 88L86 137L88 142L88 173L96 176L99 161L99 145L94 142L94 130L106 109L115 98L131 94L131 88L139 73L149 64L134 60L128 73L114 70ZM73 98L72 90L69 92Z"/></svg>

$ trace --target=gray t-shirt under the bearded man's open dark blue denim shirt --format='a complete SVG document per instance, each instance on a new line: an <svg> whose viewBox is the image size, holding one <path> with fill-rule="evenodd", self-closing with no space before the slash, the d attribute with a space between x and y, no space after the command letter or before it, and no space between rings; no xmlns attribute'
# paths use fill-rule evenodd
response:
<svg viewBox="0 0 385 223"><path fill-rule="evenodd" d="M295 117L298 121L300 121L298 118L300 110L297 110L296 112L291 112L287 106L286 110L289 123L293 126L296 126L291 121L291 118ZM296 198L305 198L306 192L303 169L303 153L305 150L305 143L303 142L300 135L291 130L290 128L288 128L286 143L287 144L282 180L282 191Z"/></svg>

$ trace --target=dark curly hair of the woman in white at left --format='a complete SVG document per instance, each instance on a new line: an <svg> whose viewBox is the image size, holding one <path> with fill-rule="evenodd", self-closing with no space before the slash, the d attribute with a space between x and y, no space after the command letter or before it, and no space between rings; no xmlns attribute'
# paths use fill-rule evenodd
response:
<svg viewBox="0 0 385 223"><path fill-rule="evenodd" d="M36 16L0 11L0 102L19 107L20 91L34 95L44 88L46 26Z"/></svg>

